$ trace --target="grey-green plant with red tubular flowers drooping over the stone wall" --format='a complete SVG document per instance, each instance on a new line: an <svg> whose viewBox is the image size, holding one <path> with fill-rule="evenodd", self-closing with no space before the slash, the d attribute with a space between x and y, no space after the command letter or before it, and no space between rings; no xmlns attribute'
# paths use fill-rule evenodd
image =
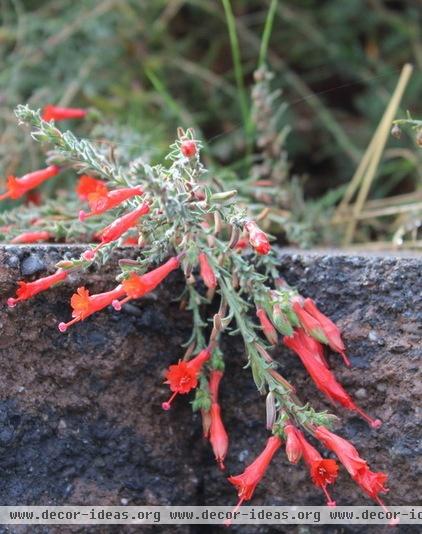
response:
<svg viewBox="0 0 422 534"><path fill-rule="evenodd" d="M244 473L228 478L237 489L238 506L252 498L284 445L288 460L296 464L303 459L327 504L335 504L327 486L335 482L339 467L334 459L323 458L305 435L334 452L363 491L384 506L379 494L387 491L387 475L371 471L351 443L331 432L334 416L316 412L299 399L270 354L271 348L282 342L298 355L316 387L333 403L378 428L381 421L356 405L325 358L329 348L350 365L339 329L313 300L303 298L279 277L270 237L250 216L236 191L225 191L207 175L200 159L201 143L193 131L179 129L168 165L152 166L142 158L119 160L101 144L78 139L56 127L55 120L85 117L83 110L47 109L43 115L27 106L16 110L19 121L32 127L32 137L49 144L51 150L47 169L15 182L26 193L61 170L73 169L82 174L76 186L78 202L88 204L90 211L78 213L75 209L73 218L67 216L59 223L57 218L44 216L32 225L32 234L37 236L25 231L19 242L60 237L63 227L75 221L85 225L86 234L99 242L80 257L59 262L50 276L19 281L8 305L15 307L93 262L106 262L118 246L135 244L138 259L120 261L115 287L93 295L85 287L77 288L70 301L72 319L59 322L59 330L64 333L110 305L119 311L128 301L154 291L171 272L181 271L186 282L182 300L192 311L192 335L184 355L165 372L170 398L163 400L163 409L170 410L178 396L194 394L193 410L200 411L204 436L223 470L229 453L224 406L219 398L225 367L220 348L224 332L242 337L247 367L259 392L266 395L266 427L271 434L267 444ZM12 226L10 232L14 231ZM40 231L45 232L44 237ZM16 237L12 240L16 242ZM216 313L211 312L216 309Z"/></svg>

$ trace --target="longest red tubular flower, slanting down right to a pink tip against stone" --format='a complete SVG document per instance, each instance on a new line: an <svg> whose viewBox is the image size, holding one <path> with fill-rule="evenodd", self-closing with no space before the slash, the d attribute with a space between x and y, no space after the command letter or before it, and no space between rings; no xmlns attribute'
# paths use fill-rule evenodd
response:
<svg viewBox="0 0 422 534"><path fill-rule="evenodd" d="M289 347L296 352L316 387L325 393L329 399L338 402L348 410L357 412L372 426L372 428L379 428L381 426L381 421L379 419L372 419L362 410L362 408L359 408L359 406L352 401L341 384L337 382L331 371L327 369L318 356L315 357L315 353L311 352L309 349L306 333L302 329L295 330L294 334L290 337L285 336L283 338L283 343L286 347Z"/></svg>

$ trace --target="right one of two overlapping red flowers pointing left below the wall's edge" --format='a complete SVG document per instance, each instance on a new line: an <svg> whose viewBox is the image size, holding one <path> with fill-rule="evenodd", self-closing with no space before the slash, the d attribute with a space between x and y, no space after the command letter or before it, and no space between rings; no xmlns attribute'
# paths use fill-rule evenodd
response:
<svg viewBox="0 0 422 534"><path fill-rule="evenodd" d="M167 260L163 265L143 274L142 276L131 273L129 278L123 280L122 286L126 297L123 300L112 302L115 310L121 310L122 305L132 299L139 299L153 291L161 282L180 265L180 260L176 256Z"/></svg>

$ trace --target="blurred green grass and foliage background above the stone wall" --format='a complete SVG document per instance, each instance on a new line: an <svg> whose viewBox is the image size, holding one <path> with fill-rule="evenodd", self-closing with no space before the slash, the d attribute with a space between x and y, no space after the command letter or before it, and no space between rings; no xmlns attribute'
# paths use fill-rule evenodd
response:
<svg viewBox="0 0 422 534"><path fill-rule="evenodd" d="M358 213L351 198L332 218L407 62L414 70L395 117L422 117L420 0L0 5L3 177L44 164L16 125L17 104L89 107L104 119L75 132L113 140L126 157L160 161L177 126L194 127L216 180L235 184L257 212L275 208L266 224L281 242L420 246L422 150L411 130L388 137L369 183L365 171Z"/></svg>

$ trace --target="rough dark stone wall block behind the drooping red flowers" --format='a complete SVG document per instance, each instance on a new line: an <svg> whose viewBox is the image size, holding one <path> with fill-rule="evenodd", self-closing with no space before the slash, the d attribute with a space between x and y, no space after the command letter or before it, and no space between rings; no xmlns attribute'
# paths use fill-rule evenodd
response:
<svg viewBox="0 0 422 534"><path fill-rule="evenodd" d="M0 248L0 504L209 504L236 501L201 438L198 415L186 399L168 413L163 370L181 354L189 313L173 299L177 274L129 311L106 310L60 334L69 297L85 283L92 291L113 284L113 263L74 275L60 287L8 309L15 282L49 274L67 246ZM119 252L124 255L124 252ZM127 256L127 254L126 254ZM276 358L302 399L341 416L338 432L353 441L374 470L390 476L392 505L421 503L420 364L421 258L280 253L280 274L341 327L352 369L330 355L346 389L384 424L375 431L350 412L327 404L299 360L278 349ZM35 273L35 274L33 274ZM32 275L32 276L31 276ZM228 473L239 473L266 438L264 400L256 392L239 340L225 341L224 419L230 429ZM344 471L333 487L337 502L370 504ZM123 500L123 501L122 501ZM320 505L322 493L303 465L278 454L256 505ZM220 527L151 527L161 532L223 532ZM399 527L403 532L409 527ZM120 527L21 527L2 532L121 532ZM142 530L149 531L148 527ZM310 532L303 526L246 527L233 531ZM312 528L314 530L314 528ZM369 531L369 529L366 529ZM125 531L131 532L129 528ZM133 530L133 531L136 531ZM351 532L351 527L321 527ZM359 531L359 529L357 530Z"/></svg>

